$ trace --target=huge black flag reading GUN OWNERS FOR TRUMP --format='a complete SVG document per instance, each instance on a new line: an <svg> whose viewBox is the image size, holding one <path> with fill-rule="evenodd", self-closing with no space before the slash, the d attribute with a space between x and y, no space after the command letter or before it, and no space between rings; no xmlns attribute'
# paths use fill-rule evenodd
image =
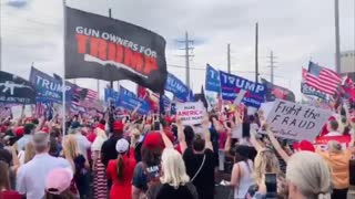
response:
<svg viewBox="0 0 355 199"><path fill-rule="evenodd" d="M65 78L131 80L162 93L166 74L164 38L67 7Z"/></svg>

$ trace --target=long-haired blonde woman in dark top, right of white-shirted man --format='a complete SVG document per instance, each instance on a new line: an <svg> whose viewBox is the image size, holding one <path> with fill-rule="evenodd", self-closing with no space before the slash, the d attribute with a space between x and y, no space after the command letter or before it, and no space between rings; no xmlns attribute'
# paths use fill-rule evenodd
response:
<svg viewBox="0 0 355 199"><path fill-rule="evenodd" d="M75 136L68 135L63 142L63 157L71 164L74 178L74 186L78 187L80 198L88 197L87 189L89 188L88 179L85 178L89 169L89 163L81 154ZM72 190L74 192L74 190Z"/></svg>

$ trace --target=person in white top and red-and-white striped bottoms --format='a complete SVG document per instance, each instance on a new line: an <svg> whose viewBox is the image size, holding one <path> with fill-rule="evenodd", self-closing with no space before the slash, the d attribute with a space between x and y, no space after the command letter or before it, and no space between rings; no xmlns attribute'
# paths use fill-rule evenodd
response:
<svg viewBox="0 0 355 199"><path fill-rule="evenodd" d="M93 160L93 193L94 199L108 198L108 181L105 167L101 161L101 147L108 139L106 133L101 128L95 128L94 134L97 135L94 142L91 145L92 160Z"/></svg>

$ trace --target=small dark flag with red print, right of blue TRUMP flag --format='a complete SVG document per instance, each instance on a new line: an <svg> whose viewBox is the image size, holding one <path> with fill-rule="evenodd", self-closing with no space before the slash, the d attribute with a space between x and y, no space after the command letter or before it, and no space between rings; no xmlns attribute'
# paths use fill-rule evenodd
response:
<svg viewBox="0 0 355 199"><path fill-rule="evenodd" d="M281 98L284 101L295 102L295 94L282 86L275 85L265 78L262 78L262 83L266 86L266 101L272 102L275 98Z"/></svg>

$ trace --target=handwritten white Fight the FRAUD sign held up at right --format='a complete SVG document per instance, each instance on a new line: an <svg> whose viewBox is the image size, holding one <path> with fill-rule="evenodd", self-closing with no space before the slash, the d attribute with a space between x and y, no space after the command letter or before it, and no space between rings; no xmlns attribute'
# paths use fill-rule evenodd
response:
<svg viewBox="0 0 355 199"><path fill-rule="evenodd" d="M276 137L313 142L332 115L331 111L276 100L261 107Z"/></svg>

